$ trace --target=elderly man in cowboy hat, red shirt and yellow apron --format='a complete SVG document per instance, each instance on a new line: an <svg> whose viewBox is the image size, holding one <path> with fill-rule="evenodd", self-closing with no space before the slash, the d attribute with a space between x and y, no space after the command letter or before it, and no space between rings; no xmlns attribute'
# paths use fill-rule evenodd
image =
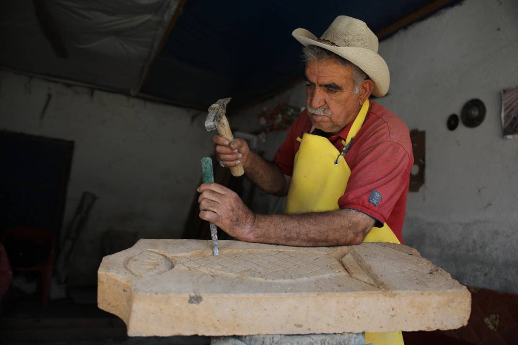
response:
<svg viewBox="0 0 518 345"><path fill-rule="evenodd" d="M364 22L347 16L337 17L320 39L302 28L293 36L305 46L307 109L274 161L250 151L242 139L214 137L225 167L241 162L262 190L287 193L286 214L254 214L232 190L203 184L200 218L248 242L402 243L412 145L407 126L369 99L389 89L378 38ZM366 334L366 342L394 344L402 338L400 332Z"/></svg>

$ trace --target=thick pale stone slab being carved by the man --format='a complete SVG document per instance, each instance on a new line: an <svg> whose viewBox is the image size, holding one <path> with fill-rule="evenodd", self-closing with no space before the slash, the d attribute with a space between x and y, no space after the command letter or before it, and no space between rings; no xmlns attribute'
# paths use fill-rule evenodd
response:
<svg viewBox="0 0 518 345"><path fill-rule="evenodd" d="M103 259L98 306L130 336L419 331L467 323L471 296L410 247L141 239Z"/></svg>

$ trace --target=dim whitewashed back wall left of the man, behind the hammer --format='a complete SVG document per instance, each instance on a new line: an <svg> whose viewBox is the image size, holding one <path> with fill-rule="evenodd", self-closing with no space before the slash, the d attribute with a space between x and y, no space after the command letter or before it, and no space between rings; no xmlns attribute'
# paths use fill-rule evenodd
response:
<svg viewBox="0 0 518 345"><path fill-rule="evenodd" d="M44 118L40 114L52 95ZM194 121L191 119L193 116ZM109 229L139 237L180 237L213 151L206 112L48 82L0 71L0 129L73 140L64 228L83 191L98 197L71 275L94 283L100 236Z"/></svg>

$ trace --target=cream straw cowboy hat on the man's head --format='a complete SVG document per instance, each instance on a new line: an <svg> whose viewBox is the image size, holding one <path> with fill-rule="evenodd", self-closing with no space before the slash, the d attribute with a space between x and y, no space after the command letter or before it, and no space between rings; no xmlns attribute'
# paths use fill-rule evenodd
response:
<svg viewBox="0 0 518 345"><path fill-rule="evenodd" d="M375 84L372 95L381 97L389 91L389 67L378 54L378 37L363 21L338 16L320 38L303 28L292 35L304 46L322 47L361 68Z"/></svg>

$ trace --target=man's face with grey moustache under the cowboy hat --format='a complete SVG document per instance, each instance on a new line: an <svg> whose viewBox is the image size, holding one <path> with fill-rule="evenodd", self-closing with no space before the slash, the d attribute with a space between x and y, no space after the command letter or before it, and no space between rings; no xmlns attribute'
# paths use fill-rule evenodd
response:
<svg viewBox="0 0 518 345"><path fill-rule="evenodd" d="M350 124L363 104L362 92L354 94L353 89L351 67L330 58L306 64L306 104L313 126L338 133Z"/></svg>

